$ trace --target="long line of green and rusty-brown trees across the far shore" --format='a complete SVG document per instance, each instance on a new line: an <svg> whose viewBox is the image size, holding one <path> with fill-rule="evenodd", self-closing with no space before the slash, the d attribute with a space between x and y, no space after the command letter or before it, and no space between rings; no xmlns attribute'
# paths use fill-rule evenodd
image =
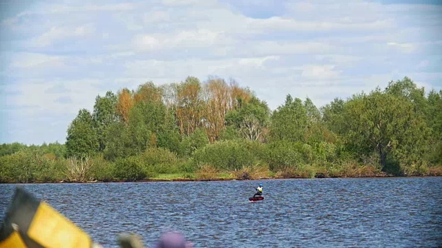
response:
<svg viewBox="0 0 442 248"><path fill-rule="evenodd" d="M293 98L271 111L236 81L180 83L97 96L66 143L0 145L0 181L420 176L442 174L442 90L411 79L336 98Z"/></svg>

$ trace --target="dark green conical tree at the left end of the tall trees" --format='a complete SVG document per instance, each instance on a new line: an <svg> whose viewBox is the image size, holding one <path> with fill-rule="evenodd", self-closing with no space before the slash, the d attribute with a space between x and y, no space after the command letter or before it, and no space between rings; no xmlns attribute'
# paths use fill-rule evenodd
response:
<svg viewBox="0 0 442 248"><path fill-rule="evenodd" d="M95 121L86 109L79 110L77 117L68 127L66 156L84 158L99 151L99 141Z"/></svg>

